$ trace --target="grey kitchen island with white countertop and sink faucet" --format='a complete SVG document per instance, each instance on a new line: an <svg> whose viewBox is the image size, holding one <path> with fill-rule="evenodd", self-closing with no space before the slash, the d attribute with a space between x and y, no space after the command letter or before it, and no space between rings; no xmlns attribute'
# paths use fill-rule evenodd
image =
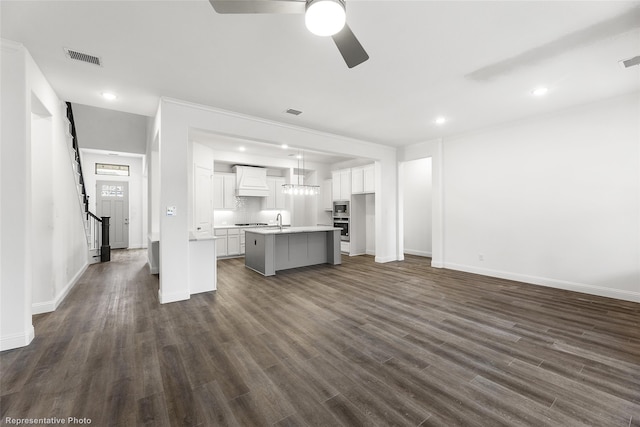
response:
<svg viewBox="0 0 640 427"><path fill-rule="evenodd" d="M245 230L245 266L264 276L315 264L340 264L340 228L331 226Z"/></svg>

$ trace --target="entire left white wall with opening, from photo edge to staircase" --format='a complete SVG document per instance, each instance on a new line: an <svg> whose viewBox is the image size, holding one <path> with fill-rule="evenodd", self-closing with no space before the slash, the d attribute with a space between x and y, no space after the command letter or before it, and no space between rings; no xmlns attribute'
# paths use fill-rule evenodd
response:
<svg viewBox="0 0 640 427"><path fill-rule="evenodd" d="M2 40L1 67L0 350L6 350L33 339L32 312L57 307L86 268L88 253L63 104L24 46ZM32 150L41 148L49 159L40 152L32 157ZM39 169L33 171L34 166ZM49 184L42 185L45 181ZM33 196L48 188L53 197L38 198L34 205ZM49 208L44 225L35 208ZM41 247L32 250L41 244L51 248L48 255ZM34 263L42 256L50 258ZM48 269L49 277L40 269Z"/></svg>

